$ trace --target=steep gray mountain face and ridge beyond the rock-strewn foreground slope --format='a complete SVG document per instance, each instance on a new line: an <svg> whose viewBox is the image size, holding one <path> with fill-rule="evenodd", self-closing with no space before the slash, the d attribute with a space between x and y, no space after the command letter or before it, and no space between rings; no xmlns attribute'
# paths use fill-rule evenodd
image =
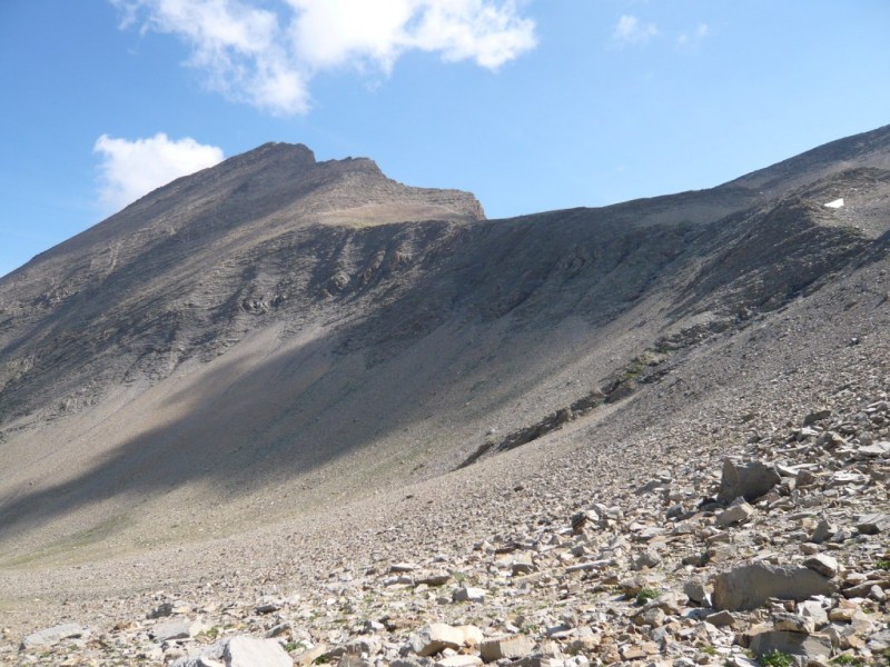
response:
<svg viewBox="0 0 890 667"><path fill-rule="evenodd" d="M889 229L890 128L510 220L260 147L0 281L0 558L237 532L518 447L883 261Z"/></svg>

